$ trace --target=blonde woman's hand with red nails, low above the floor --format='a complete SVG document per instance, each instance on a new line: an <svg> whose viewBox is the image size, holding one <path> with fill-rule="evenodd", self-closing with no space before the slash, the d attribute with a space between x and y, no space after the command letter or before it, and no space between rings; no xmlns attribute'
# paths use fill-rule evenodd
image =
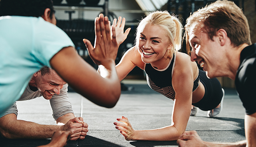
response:
<svg viewBox="0 0 256 147"><path fill-rule="evenodd" d="M120 133L124 136L125 140L133 140L134 130L132 129L132 125L128 119L126 117L122 117L121 119L117 119L117 121L122 123L114 123L114 125L116 125L117 130L120 130Z"/></svg>

